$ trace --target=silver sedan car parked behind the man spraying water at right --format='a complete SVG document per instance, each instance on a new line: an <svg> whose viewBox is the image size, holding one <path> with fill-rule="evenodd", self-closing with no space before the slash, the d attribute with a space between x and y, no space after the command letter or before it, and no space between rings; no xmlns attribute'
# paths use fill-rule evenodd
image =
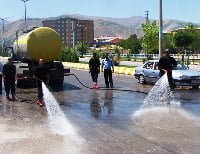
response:
<svg viewBox="0 0 200 154"><path fill-rule="evenodd" d="M139 83L147 82L155 83L159 78L160 71L158 70L158 60L150 60L142 66L135 68L135 78ZM189 70L184 64L177 62L177 67L172 70L174 86L192 86L197 89L200 86L200 72Z"/></svg>

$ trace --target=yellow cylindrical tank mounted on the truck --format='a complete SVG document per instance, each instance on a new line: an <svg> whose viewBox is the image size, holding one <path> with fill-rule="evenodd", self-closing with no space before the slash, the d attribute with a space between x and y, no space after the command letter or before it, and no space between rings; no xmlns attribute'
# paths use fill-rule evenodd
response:
<svg viewBox="0 0 200 154"><path fill-rule="evenodd" d="M16 38L13 47L17 59L38 61L43 58L45 62L49 62L59 55L62 42L55 30L39 27Z"/></svg>

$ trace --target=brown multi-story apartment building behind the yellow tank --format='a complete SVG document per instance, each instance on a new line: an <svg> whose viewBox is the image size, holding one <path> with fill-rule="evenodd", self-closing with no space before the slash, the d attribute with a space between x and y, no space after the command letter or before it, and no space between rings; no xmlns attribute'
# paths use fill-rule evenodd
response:
<svg viewBox="0 0 200 154"><path fill-rule="evenodd" d="M76 18L59 18L44 20L44 27L57 31L63 45L75 47L77 43L92 44L94 41L94 22L92 20L78 20Z"/></svg>

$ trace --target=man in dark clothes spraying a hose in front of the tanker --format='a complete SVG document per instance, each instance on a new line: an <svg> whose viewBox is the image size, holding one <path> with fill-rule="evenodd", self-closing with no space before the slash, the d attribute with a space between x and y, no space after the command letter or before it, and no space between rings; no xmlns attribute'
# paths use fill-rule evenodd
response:
<svg viewBox="0 0 200 154"><path fill-rule="evenodd" d="M38 100L36 103L42 107L44 106L42 82L47 83L49 81L49 70L46 66L44 66L43 59L39 60L39 66L35 68L34 78L36 79L36 84L38 88Z"/></svg>

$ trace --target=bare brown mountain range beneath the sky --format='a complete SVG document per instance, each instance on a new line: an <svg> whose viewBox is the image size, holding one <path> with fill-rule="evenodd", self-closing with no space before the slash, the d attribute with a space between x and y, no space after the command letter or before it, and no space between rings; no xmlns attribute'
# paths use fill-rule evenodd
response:
<svg viewBox="0 0 200 154"><path fill-rule="evenodd" d="M61 18L61 17L72 17L78 19L88 19L94 21L94 35L95 37L100 36L117 36L123 39L128 38L131 34L136 34L138 37L143 35L141 24L145 23L145 17L133 16L129 18L111 18L111 17L96 17L96 16L85 16L80 14L73 15L62 15L51 18L28 18L28 28L42 26L42 21L47 19ZM152 20L152 19L151 19ZM164 20L163 29L164 31L172 31L174 29L184 27L187 24L185 21L178 20ZM195 24L199 25L199 24ZM16 20L13 22L7 22L5 24L5 38L8 42L15 38L16 31L25 27L24 20ZM0 38L2 37L2 24L0 26Z"/></svg>

